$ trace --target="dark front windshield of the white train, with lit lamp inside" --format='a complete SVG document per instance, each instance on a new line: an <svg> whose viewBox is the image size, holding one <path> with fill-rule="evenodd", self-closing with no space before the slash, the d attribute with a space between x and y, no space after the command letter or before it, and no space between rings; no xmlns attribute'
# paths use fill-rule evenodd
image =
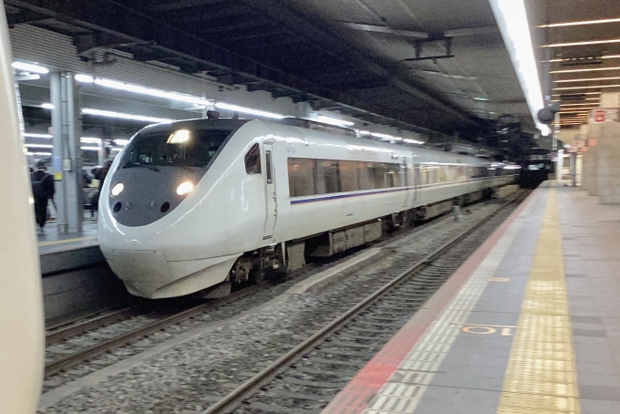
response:
<svg viewBox="0 0 620 414"><path fill-rule="evenodd" d="M207 168L231 129L144 131L129 142L120 168Z"/></svg>

